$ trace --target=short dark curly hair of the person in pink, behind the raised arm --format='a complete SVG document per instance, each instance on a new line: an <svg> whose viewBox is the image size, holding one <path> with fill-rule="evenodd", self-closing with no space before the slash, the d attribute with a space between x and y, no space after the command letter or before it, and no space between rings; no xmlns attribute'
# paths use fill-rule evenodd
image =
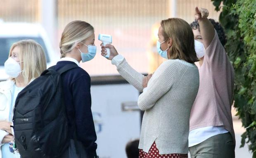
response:
<svg viewBox="0 0 256 158"><path fill-rule="evenodd" d="M220 43L223 45L223 47L225 46L225 44L227 43L227 39L226 39L226 34L224 31L224 28L220 25L220 23L218 23L217 21L215 21L212 18L209 18L209 21L211 21L211 23L213 24L214 29L216 30L218 37L220 39ZM200 32L200 27L198 24L198 21L195 20L190 24L191 28L194 30L197 30Z"/></svg>

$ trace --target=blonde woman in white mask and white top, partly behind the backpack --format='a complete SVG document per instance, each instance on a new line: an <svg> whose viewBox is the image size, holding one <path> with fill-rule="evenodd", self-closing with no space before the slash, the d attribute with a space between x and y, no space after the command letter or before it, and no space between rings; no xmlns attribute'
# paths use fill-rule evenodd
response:
<svg viewBox="0 0 256 158"><path fill-rule="evenodd" d="M11 129L14 104L19 92L46 69L43 48L33 40L14 43L5 62L11 77L0 82L0 158L19 158Z"/></svg>

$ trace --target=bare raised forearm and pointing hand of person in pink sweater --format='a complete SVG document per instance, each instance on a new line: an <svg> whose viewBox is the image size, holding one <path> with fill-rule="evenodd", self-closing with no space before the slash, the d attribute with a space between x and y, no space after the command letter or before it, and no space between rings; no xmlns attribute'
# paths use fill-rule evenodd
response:
<svg viewBox="0 0 256 158"><path fill-rule="evenodd" d="M204 8L195 8L195 19L199 23L201 37L203 39L203 44L205 48L211 44L213 38L215 36L215 30L211 21L207 18L209 15L209 11Z"/></svg>

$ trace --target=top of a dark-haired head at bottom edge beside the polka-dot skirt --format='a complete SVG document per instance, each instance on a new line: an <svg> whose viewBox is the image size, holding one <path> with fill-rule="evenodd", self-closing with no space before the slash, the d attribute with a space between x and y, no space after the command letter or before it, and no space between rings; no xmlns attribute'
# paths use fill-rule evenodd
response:
<svg viewBox="0 0 256 158"><path fill-rule="evenodd" d="M133 140L126 144L126 155L127 158L138 158L139 157L139 140Z"/></svg>

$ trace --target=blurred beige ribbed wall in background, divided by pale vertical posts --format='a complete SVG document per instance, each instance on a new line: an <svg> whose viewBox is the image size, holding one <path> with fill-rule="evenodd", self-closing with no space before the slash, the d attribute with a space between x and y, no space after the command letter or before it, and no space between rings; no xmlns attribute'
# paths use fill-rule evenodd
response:
<svg viewBox="0 0 256 158"><path fill-rule="evenodd" d="M55 49L65 25L73 20L87 21L99 33L111 34L113 44L129 64L142 73L154 72L163 62L156 52L158 25L170 18L172 0L55 0L57 38ZM0 18L4 21L40 22L42 0L1 0ZM218 20L211 0L176 0L176 15L188 23L194 20L194 7L209 9L210 18ZM156 34L155 34L156 33ZM52 36L51 34L49 36ZM95 44L100 45L96 40ZM97 50L100 54L100 47ZM116 74L109 61L96 55L82 65L91 75Z"/></svg>

